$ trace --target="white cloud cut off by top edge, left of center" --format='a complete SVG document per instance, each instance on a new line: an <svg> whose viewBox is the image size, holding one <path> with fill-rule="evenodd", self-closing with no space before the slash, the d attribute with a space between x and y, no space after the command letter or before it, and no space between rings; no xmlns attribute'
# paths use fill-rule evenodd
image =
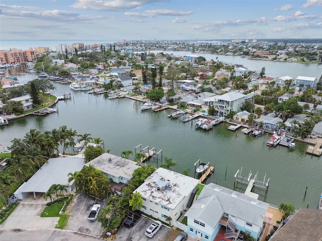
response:
<svg viewBox="0 0 322 241"><path fill-rule="evenodd" d="M120 12L129 9L135 9L140 5L146 5L157 2L165 2L165 0L77 0L70 7L75 9L92 9L99 11Z"/></svg>

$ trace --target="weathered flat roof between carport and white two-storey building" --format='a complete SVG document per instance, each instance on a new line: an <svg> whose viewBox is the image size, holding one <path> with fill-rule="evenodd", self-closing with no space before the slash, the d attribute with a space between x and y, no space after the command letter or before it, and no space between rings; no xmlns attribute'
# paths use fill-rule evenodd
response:
<svg viewBox="0 0 322 241"><path fill-rule="evenodd" d="M109 159L111 158L111 161ZM86 163L86 166L92 165L106 174L116 177L132 178L133 171L139 166L131 160L114 156L109 153L103 153L101 156Z"/></svg>

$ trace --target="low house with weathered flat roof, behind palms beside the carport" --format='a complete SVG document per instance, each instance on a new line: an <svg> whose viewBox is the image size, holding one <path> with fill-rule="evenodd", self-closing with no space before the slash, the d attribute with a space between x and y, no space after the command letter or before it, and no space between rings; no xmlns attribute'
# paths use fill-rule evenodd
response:
<svg viewBox="0 0 322 241"><path fill-rule="evenodd" d="M103 153L85 165L102 171L111 180L111 191L119 194L132 179L134 170L139 168L136 162L109 153Z"/></svg>

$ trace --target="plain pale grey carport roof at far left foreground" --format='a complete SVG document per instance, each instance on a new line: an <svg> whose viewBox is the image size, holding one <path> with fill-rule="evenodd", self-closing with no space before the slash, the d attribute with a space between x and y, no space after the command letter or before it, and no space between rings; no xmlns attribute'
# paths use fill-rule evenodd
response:
<svg viewBox="0 0 322 241"><path fill-rule="evenodd" d="M47 192L53 184L68 185L68 173L81 171L84 158L50 158L27 182L15 193Z"/></svg>

